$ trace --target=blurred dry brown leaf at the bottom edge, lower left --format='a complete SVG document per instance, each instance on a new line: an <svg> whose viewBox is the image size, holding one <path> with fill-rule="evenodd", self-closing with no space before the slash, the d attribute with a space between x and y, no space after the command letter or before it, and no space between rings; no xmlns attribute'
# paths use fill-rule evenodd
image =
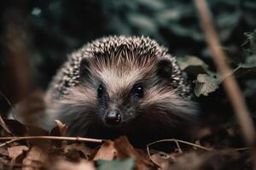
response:
<svg viewBox="0 0 256 170"><path fill-rule="evenodd" d="M36 170L40 169L48 160L47 151L38 146L32 146L26 158L23 160L22 170Z"/></svg>

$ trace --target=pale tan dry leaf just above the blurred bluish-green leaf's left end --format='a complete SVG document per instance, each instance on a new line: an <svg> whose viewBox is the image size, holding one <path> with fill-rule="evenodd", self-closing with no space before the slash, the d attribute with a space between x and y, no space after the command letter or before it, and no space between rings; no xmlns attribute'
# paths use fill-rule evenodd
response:
<svg viewBox="0 0 256 170"><path fill-rule="evenodd" d="M113 145L113 141L106 141L101 148L96 152L93 160L113 160L117 156L117 150Z"/></svg>

